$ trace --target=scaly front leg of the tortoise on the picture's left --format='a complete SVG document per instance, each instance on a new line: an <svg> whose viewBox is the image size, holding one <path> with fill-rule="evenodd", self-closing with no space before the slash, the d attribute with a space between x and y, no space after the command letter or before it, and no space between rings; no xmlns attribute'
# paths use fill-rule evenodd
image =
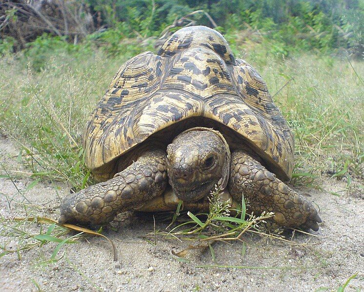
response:
<svg viewBox="0 0 364 292"><path fill-rule="evenodd" d="M145 152L114 178L65 198L58 221L100 225L122 211L139 209L148 199L163 194L167 183L165 159L162 150Z"/></svg>

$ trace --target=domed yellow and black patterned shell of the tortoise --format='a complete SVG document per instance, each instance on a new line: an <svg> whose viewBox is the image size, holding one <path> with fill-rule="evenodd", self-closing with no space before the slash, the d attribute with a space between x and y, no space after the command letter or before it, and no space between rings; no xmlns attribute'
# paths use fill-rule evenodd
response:
<svg viewBox="0 0 364 292"><path fill-rule="evenodd" d="M182 28L157 55L145 52L121 66L87 123L86 164L99 180L108 179L118 157L135 154L157 133L169 143L178 134L173 125L188 128L191 118L191 126L228 128L279 178L291 177L293 136L266 83L204 26Z"/></svg>

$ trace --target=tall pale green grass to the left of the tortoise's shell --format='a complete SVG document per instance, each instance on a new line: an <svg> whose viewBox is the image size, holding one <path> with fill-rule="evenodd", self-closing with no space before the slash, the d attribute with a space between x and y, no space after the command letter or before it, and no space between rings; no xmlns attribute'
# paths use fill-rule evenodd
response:
<svg viewBox="0 0 364 292"><path fill-rule="evenodd" d="M75 60L60 55L40 72L16 58L0 61L0 131L15 140L33 177L91 182L83 161L81 134L92 107L125 58L101 53Z"/></svg>

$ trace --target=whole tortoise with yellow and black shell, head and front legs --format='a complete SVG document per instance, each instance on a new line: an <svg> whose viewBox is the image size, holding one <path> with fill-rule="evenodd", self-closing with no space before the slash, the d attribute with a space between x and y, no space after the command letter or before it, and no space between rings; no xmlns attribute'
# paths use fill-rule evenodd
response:
<svg viewBox="0 0 364 292"><path fill-rule="evenodd" d="M95 226L122 211L206 208L216 184L231 202L274 212L286 227L319 229L292 177L294 139L266 83L223 36L192 26L157 55L131 58L110 83L84 132L98 184L65 198L60 223Z"/></svg>

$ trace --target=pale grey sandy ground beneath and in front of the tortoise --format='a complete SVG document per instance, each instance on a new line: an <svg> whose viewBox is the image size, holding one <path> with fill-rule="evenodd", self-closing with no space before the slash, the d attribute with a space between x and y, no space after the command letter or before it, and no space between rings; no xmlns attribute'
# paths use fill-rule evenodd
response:
<svg viewBox="0 0 364 292"><path fill-rule="evenodd" d="M0 138L0 161L11 169L21 169L15 162L17 149ZM32 182L22 178L14 181L20 191ZM353 183L360 185L363 181ZM358 273L345 291L364 287L364 195L358 186L345 190L345 183L329 177L321 186L325 191L298 189L320 208L323 223L316 236L295 234L298 246L282 241L267 241L246 236L246 252L241 243L214 245L216 264L256 266L260 269L198 268L214 265L208 250L192 251L188 262L180 262L171 250L182 250L186 243L158 238L157 244L141 236L153 230L153 220L131 215L117 223L117 231L104 234L112 239L119 253L113 262L109 243L100 237L87 237L78 244L64 245L58 262L50 262L56 244L50 243L26 252L6 254L0 258L1 291L336 291L349 276ZM0 178L0 216L41 215L57 218L60 200L68 195L66 185L38 183L24 195L31 204L24 207L23 197L10 179ZM329 193L336 192L340 196ZM12 198L10 204L7 198ZM14 222L4 221L14 225ZM157 220L156 228L167 223ZM0 234L3 234L0 225ZM40 227L30 223L19 228L39 233ZM0 245L8 249L18 246L18 238L0 235ZM307 242L308 241L308 242ZM262 267L284 267L267 270ZM285 269L307 267L307 269ZM39 288L37 288L37 285ZM326 289L325 289L326 288Z"/></svg>

